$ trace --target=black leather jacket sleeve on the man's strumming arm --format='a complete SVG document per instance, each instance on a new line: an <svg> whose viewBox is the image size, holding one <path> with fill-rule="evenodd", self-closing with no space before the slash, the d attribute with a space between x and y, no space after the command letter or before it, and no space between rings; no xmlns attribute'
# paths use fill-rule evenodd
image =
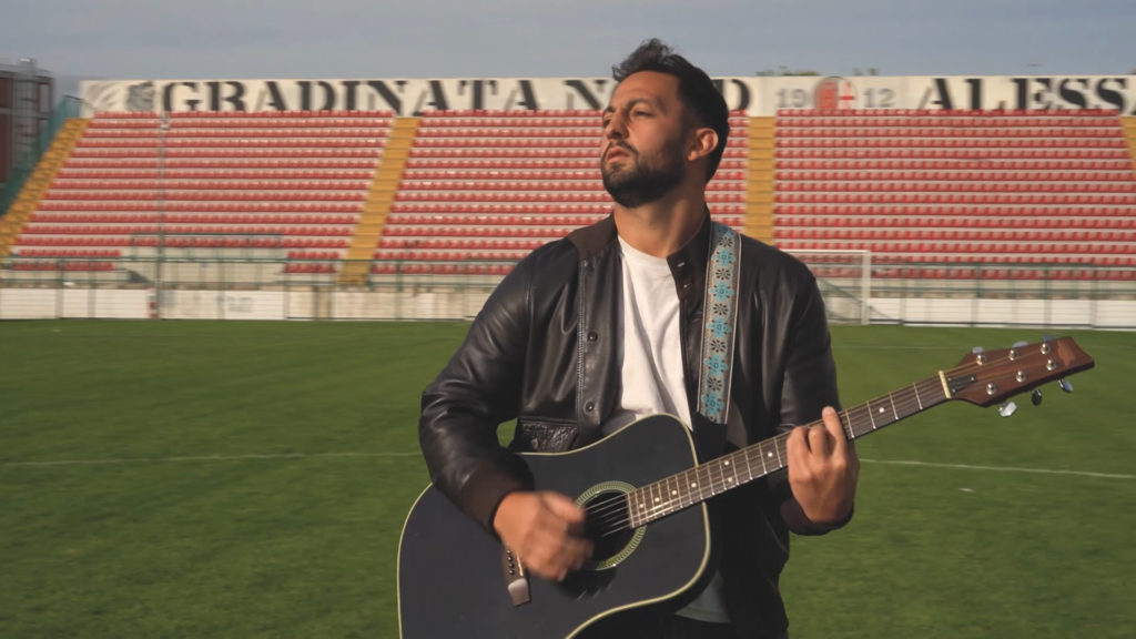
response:
<svg viewBox="0 0 1136 639"><path fill-rule="evenodd" d="M418 438L431 480L490 532L501 499L532 486L524 463L496 433L517 413L528 339L527 271L519 265L499 284L421 397Z"/></svg>

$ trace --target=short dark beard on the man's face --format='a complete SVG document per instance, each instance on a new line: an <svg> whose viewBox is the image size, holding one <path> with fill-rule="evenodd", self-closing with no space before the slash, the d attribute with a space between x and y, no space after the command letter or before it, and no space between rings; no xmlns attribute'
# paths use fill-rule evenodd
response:
<svg viewBox="0 0 1136 639"><path fill-rule="evenodd" d="M627 208L638 208L645 204L658 201L669 193L683 179L686 163L683 161L682 140L667 142L653 157L644 158L638 150L627 143L612 142L630 153L633 166L611 168L605 161L600 161L600 173L603 175L603 188L611 199ZM654 161L652 161L654 160Z"/></svg>

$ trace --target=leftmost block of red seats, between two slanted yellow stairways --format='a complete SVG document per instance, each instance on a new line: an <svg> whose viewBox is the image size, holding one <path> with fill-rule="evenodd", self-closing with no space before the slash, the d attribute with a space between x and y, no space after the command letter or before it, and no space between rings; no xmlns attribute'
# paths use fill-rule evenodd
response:
<svg viewBox="0 0 1136 639"><path fill-rule="evenodd" d="M16 267L110 271L161 251L334 273L392 115L97 114L16 238L12 254L37 259Z"/></svg>

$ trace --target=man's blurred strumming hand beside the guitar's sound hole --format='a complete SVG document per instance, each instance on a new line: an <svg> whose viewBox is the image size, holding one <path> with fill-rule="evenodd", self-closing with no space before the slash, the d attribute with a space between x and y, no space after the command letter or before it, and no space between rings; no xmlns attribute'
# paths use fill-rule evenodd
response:
<svg viewBox="0 0 1136 639"><path fill-rule="evenodd" d="M563 581L592 556L583 536L584 509L559 492L510 492L493 516L501 541L520 557L525 569Z"/></svg>

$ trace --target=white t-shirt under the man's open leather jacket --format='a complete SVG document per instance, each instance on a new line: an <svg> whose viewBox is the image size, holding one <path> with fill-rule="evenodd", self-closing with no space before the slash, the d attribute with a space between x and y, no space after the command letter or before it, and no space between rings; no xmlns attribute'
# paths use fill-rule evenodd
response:
<svg viewBox="0 0 1136 639"><path fill-rule="evenodd" d="M619 238L623 249L623 392L610 422L624 425L658 413L669 413L691 428L683 373L679 301L670 266ZM604 431L609 431L604 428ZM699 621L728 622L721 573L701 595L676 614Z"/></svg>

